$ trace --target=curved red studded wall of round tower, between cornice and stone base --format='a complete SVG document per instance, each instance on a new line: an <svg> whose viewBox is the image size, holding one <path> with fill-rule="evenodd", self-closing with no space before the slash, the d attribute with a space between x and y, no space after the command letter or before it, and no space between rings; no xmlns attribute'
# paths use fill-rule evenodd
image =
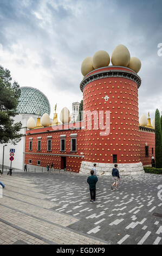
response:
<svg viewBox="0 0 162 256"><path fill-rule="evenodd" d="M95 72L99 70L93 71L93 74ZM108 101L105 101L106 95ZM122 77L92 81L83 89L83 109L90 112L97 110L98 117L100 113L110 112L108 136L100 136L100 131L104 130L99 123L100 117L99 130L94 129L94 123L92 130L88 130L90 113L86 118L85 161L113 163L113 155L116 155L119 163L140 162L137 83Z"/></svg>

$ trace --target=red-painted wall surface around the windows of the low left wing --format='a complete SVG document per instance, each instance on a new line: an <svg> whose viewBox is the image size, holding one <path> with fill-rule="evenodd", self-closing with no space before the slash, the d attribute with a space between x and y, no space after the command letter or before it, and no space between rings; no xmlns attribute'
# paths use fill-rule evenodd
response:
<svg viewBox="0 0 162 256"><path fill-rule="evenodd" d="M73 124L77 127L80 126L79 123ZM70 127L73 126L70 124ZM57 126L55 126L57 128ZM46 132L47 130L50 130L51 132ZM39 133L37 133L39 132ZM44 133L46 132L46 133ZM51 127L43 127L41 129L34 129L27 131L26 141L25 141L25 163L29 164L29 159L32 160L32 165L37 165L37 160L41 161L41 166L46 167L47 164L51 164L51 162L54 163L54 168L61 169L61 156L52 156L52 155L45 155L45 154L62 154L64 156L66 155L81 155L81 152L83 151L82 143L81 143L81 137L82 137L82 130L63 130L63 131L54 131L51 129ZM30 133L30 134L29 134ZM77 152L72 152L71 150L71 142L70 142L70 134L77 133ZM66 135L66 152L60 151L60 135ZM51 151L47 151L47 136L52 136L51 139ZM41 151L37 150L37 137L42 137L41 139ZM33 148L30 151L29 150L29 138L33 138ZM31 154L35 153L35 154ZM38 155L36 153L42 153L41 155ZM44 155L43 155L44 153ZM66 166L67 170L70 168L73 172L79 172L81 161L84 159L82 157L76 157L76 156L67 156L66 159Z"/></svg>

